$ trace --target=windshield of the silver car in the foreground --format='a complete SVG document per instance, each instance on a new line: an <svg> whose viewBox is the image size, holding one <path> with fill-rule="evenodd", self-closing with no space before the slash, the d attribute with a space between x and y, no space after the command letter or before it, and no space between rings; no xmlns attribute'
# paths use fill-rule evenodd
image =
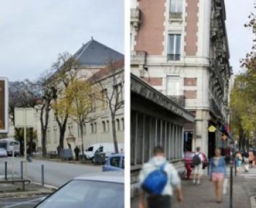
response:
<svg viewBox="0 0 256 208"><path fill-rule="evenodd" d="M98 181L71 181L38 208L123 208L124 185Z"/></svg>

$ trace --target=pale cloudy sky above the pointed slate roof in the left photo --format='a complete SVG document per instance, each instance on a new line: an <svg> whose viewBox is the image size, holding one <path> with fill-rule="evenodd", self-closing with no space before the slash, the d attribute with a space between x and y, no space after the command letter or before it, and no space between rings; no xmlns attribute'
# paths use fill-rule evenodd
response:
<svg viewBox="0 0 256 208"><path fill-rule="evenodd" d="M75 53L92 36L124 53L122 0L0 3L0 77L37 79L51 68L58 53Z"/></svg>

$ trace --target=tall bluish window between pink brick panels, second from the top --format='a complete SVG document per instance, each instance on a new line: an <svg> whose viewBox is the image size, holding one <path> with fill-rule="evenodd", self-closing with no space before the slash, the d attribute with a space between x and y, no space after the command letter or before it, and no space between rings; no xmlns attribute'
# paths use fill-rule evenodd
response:
<svg viewBox="0 0 256 208"><path fill-rule="evenodd" d="M168 35L168 48L167 59L171 61L179 61L181 58L181 36L169 34Z"/></svg>

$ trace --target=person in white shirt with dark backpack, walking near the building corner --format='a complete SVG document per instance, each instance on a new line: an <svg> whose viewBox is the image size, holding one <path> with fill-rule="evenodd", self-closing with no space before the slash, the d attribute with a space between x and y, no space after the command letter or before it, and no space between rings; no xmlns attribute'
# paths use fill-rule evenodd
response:
<svg viewBox="0 0 256 208"><path fill-rule="evenodd" d="M200 179L202 177L202 162L203 157L202 153L200 152L200 147L197 147L194 157L192 158L192 165L194 168L194 176L193 176L193 183L200 184Z"/></svg>

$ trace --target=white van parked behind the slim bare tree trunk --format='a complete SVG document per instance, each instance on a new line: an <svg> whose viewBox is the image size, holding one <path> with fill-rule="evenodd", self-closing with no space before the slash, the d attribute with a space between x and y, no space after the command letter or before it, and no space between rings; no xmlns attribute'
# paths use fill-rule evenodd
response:
<svg viewBox="0 0 256 208"><path fill-rule="evenodd" d="M118 144L119 152L124 152L124 144ZM87 160L93 160L95 152L106 153L106 157L115 153L115 147L113 143L98 143L93 144L88 149L85 149L85 158Z"/></svg>

